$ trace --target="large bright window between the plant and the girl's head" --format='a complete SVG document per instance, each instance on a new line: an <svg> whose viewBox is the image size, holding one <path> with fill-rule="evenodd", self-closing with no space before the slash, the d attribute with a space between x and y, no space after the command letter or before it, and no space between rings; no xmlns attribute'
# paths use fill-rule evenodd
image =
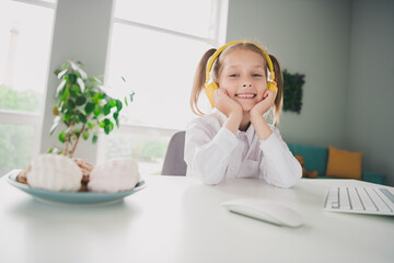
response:
<svg viewBox="0 0 394 263"><path fill-rule="evenodd" d="M136 95L120 129L102 140L99 161L132 157L141 173L161 172L170 137L195 117L194 73L202 54L223 44L225 19L227 1L115 2L106 84L123 87L124 77Z"/></svg>

